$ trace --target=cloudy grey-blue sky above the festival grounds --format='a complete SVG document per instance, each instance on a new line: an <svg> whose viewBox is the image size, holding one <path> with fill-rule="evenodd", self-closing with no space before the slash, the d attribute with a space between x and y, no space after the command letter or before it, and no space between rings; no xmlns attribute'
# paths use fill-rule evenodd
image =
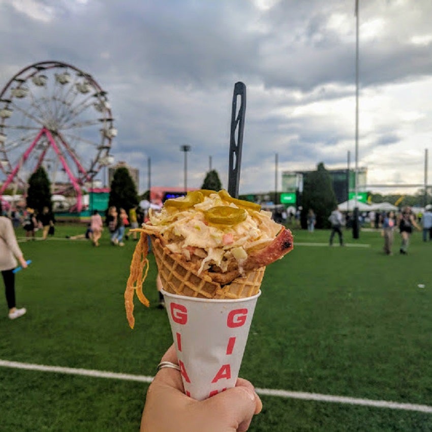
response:
<svg viewBox="0 0 432 432"><path fill-rule="evenodd" d="M232 95L242 81L240 193L270 191L284 170L344 168L348 152L354 167L354 3L0 0L0 88L44 60L89 73L108 92L112 154L140 169L144 192L148 158L152 185L183 186L183 144L188 186L201 186L211 158L227 187ZM369 184L424 182L430 16L430 0L359 0L358 163Z"/></svg>

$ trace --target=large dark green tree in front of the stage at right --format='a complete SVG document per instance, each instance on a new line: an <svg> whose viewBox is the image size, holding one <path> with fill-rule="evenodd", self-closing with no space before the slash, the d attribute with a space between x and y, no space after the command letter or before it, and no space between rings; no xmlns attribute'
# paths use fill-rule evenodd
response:
<svg viewBox="0 0 432 432"><path fill-rule="evenodd" d="M301 199L301 226L306 227L306 216L312 208L317 217L316 228L329 227L328 217L337 205L336 195L334 194L331 177L320 162L317 170L308 173L304 178L303 194Z"/></svg>

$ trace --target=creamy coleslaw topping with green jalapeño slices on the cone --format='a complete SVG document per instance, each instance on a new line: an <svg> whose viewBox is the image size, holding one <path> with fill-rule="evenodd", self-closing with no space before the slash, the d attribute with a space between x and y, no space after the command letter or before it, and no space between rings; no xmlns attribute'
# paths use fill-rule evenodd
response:
<svg viewBox="0 0 432 432"><path fill-rule="evenodd" d="M169 202L168 202L169 201ZM217 266L226 272L236 261L240 272L248 256L281 230L259 204L232 198L227 191L194 191L149 211L142 231L163 238L166 247L200 263L198 273Z"/></svg>

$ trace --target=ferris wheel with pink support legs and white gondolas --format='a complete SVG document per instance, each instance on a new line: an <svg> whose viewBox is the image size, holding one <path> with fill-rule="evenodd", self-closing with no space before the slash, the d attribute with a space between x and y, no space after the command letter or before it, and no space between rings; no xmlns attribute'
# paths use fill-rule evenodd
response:
<svg viewBox="0 0 432 432"><path fill-rule="evenodd" d="M76 197L110 165L113 126L107 92L88 73L42 61L13 76L0 92L0 196L12 185L26 190L43 166L52 192Z"/></svg>

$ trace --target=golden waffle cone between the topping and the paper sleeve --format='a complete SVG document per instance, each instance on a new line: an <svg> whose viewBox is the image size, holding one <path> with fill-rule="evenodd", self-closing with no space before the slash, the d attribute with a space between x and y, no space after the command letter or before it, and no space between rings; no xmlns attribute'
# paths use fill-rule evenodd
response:
<svg viewBox="0 0 432 432"><path fill-rule="evenodd" d="M158 238L151 236L151 244L162 286L167 292L213 299L236 299L258 294L265 267L246 272L244 276L236 277L231 283L222 286L213 282L208 274L198 274L191 262L164 248Z"/></svg>

